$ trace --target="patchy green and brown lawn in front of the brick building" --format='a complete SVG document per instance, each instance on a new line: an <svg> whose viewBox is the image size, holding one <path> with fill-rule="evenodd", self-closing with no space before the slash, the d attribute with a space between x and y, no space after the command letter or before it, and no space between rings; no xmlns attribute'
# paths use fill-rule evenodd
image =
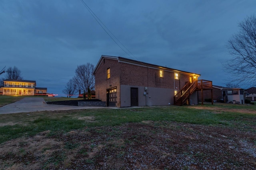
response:
<svg viewBox="0 0 256 170"><path fill-rule="evenodd" d="M256 105L3 114L0 152L0 169L255 169Z"/></svg>

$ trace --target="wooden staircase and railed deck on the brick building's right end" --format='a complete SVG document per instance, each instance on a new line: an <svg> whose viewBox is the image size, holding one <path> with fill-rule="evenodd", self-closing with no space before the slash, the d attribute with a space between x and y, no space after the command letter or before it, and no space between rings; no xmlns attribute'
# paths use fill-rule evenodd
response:
<svg viewBox="0 0 256 170"><path fill-rule="evenodd" d="M189 96L196 90L212 89L212 81L196 80L193 83L187 82L186 85L174 96L174 105L182 106L189 99Z"/></svg>

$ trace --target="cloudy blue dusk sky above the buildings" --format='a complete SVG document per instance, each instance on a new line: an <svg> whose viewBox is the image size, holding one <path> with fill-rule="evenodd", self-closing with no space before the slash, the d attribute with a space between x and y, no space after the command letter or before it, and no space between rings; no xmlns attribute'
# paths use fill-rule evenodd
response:
<svg viewBox="0 0 256 170"><path fill-rule="evenodd" d="M194 72L225 86L228 40L240 21L256 14L256 0L84 2L132 54L80 0L0 0L0 70L16 66L24 80L62 96L78 65L96 66L101 55L110 55Z"/></svg>

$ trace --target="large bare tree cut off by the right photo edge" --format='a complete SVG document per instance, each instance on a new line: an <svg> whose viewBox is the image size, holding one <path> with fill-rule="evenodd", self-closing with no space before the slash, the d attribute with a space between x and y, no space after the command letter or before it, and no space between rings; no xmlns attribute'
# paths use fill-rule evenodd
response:
<svg viewBox="0 0 256 170"><path fill-rule="evenodd" d="M228 41L232 59L223 65L231 82L256 86L256 16L247 17L238 27L240 31Z"/></svg>

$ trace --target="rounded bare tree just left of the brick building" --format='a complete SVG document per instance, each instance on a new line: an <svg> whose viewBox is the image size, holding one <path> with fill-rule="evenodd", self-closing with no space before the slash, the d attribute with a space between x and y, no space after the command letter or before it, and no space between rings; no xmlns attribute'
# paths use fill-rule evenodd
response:
<svg viewBox="0 0 256 170"><path fill-rule="evenodd" d="M78 90L83 90L84 93L88 94L88 99L91 99L91 90L94 90L95 79L92 75L94 65L87 63L77 66L76 75L74 80Z"/></svg>

